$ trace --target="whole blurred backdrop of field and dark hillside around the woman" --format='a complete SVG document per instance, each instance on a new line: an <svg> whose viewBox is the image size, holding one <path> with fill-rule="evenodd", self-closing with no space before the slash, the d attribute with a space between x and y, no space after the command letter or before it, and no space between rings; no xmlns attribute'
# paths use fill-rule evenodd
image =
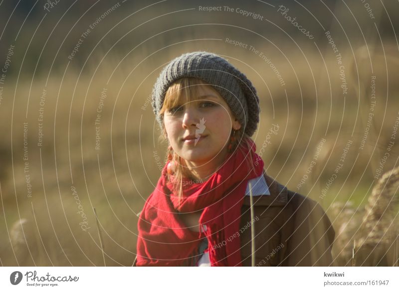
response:
<svg viewBox="0 0 399 291"><path fill-rule="evenodd" d="M265 170L326 210L335 264L397 266L398 19L388 0L0 1L1 265L133 264L167 147L152 86L205 50L256 87Z"/></svg>

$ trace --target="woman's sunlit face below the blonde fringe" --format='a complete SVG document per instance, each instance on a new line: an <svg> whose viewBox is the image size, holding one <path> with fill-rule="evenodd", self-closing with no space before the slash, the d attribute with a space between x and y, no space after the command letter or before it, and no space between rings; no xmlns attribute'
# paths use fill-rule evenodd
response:
<svg viewBox="0 0 399 291"><path fill-rule="evenodd" d="M203 164L227 152L231 129L241 125L212 87L196 88L197 99L167 109L164 124L173 150L187 161ZM184 94L181 100L187 100Z"/></svg>

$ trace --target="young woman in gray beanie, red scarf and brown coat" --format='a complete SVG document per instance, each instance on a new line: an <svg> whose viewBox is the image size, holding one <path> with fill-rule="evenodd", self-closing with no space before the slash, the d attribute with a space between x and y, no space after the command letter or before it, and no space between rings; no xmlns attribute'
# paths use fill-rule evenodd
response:
<svg viewBox="0 0 399 291"><path fill-rule="evenodd" d="M169 153L139 217L135 266L332 264L324 210L255 153L259 98L244 74L215 54L184 54L162 71L152 105Z"/></svg>

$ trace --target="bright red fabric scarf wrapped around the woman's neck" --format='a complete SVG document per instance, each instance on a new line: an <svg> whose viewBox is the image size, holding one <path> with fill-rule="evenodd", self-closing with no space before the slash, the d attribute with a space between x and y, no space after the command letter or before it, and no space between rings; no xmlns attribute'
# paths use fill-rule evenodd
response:
<svg viewBox="0 0 399 291"><path fill-rule="evenodd" d="M147 199L138 222L137 266L192 266L198 261L199 245L206 236L211 266L241 266L240 239L232 237L239 230L241 206L249 180L263 172L263 161L241 145L206 182L183 181L183 199L179 204L173 185L166 181L167 166L162 170L154 192ZM249 165L252 157L255 171ZM180 212L203 210L201 231L187 228ZM206 227L203 227L205 225Z"/></svg>

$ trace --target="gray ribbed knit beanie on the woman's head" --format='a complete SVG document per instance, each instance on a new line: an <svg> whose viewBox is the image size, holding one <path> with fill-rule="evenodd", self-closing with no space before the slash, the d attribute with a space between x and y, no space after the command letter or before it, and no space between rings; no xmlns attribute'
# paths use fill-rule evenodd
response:
<svg viewBox="0 0 399 291"><path fill-rule="evenodd" d="M244 74L222 57L209 52L192 52L172 60L161 72L152 92L152 105L162 128L159 111L169 86L178 79L193 77L211 85L226 101L244 132L252 136L259 123L259 98Z"/></svg>

